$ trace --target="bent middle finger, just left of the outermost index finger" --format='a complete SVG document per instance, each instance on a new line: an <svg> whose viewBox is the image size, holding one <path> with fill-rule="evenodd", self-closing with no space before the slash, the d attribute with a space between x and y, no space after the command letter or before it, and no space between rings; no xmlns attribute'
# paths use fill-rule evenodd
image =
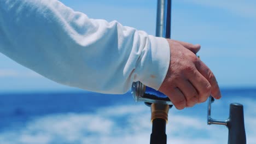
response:
<svg viewBox="0 0 256 144"><path fill-rule="evenodd" d="M192 71L192 72L191 72ZM199 102L202 103L207 100L211 94L211 84L203 77L202 74L194 67L186 73L191 84L196 88L199 95Z"/></svg>

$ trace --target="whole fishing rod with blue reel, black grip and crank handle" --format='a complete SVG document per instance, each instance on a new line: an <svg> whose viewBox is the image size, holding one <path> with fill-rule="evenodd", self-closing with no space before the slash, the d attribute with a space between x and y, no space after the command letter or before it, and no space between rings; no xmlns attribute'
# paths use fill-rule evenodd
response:
<svg viewBox="0 0 256 144"><path fill-rule="evenodd" d="M156 37L171 38L171 0L158 0L156 13ZM152 134L150 144L166 144L166 123L172 102L163 93L137 81L132 83L132 95L135 101L143 101L151 107ZM229 129L228 144L246 144L243 105L230 104L229 118L225 121L211 118L211 104L208 100L207 123L225 125Z"/></svg>

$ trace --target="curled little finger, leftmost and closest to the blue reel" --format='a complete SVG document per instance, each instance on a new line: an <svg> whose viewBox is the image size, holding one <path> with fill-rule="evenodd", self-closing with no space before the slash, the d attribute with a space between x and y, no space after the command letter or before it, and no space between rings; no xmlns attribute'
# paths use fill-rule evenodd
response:
<svg viewBox="0 0 256 144"><path fill-rule="evenodd" d="M167 95L170 95L170 100L172 101L172 104L176 107L178 110L182 110L186 106L186 99L181 90L179 88L173 88L171 91L168 91Z"/></svg>

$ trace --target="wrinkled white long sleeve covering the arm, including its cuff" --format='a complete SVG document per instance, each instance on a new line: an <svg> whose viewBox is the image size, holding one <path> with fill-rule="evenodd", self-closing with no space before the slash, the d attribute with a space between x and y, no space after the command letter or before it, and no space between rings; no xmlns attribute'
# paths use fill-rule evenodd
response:
<svg viewBox="0 0 256 144"><path fill-rule="evenodd" d="M170 62L166 39L56 0L0 1L0 52L63 85L113 94L133 81L158 89Z"/></svg>

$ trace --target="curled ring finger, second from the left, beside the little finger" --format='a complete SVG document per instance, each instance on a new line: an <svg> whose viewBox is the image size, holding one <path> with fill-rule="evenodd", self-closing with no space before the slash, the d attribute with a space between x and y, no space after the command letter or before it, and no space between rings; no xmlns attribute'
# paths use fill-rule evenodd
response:
<svg viewBox="0 0 256 144"><path fill-rule="evenodd" d="M186 98L187 107L192 107L199 101L199 95L196 89L188 80L179 82L178 87Z"/></svg>

